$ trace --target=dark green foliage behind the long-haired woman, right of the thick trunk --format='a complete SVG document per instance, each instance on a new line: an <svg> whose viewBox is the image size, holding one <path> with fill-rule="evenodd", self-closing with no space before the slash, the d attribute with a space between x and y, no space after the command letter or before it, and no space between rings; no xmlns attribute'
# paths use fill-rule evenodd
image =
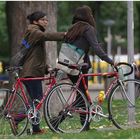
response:
<svg viewBox="0 0 140 140"><path fill-rule="evenodd" d="M58 2L58 31L67 31L71 26L74 9L81 5L88 5L93 10L96 20L97 35L99 42L107 46L105 37L107 36L107 26L104 21L112 19L115 24L111 27L113 35L112 53L116 54L117 46L122 47L122 52L127 51L127 2L126 1L62 1ZM140 4L134 1L134 21L135 21L135 51L139 48L139 20ZM137 9L136 9L137 8Z"/></svg>

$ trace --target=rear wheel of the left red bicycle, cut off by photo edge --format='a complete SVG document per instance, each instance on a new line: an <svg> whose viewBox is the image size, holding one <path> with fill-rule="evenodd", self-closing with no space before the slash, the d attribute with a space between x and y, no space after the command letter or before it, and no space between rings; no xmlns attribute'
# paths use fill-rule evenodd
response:
<svg viewBox="0 0 140 140"><path fill-rule="evenodd" d="M12 134L20 136L24 132L28 124L26 112L26 105L18 93L14 96L9 89L0 89L0 138Z"/></svg>

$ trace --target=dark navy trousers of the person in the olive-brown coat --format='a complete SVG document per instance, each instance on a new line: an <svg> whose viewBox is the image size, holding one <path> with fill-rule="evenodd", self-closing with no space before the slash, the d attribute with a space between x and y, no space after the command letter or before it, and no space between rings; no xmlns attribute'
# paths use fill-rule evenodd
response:
<svg viewBox="0 0 140 140"><path fill-rule="evenodd" d="M26 89L29 93L29 96L31 100L34 99L41 100L43 97L43 91L42 91L42 82L41 80L31 80L31 81L24 81L24 85L26 86ZM32 103L31 103L32 104ZM37 132L40 130L40 126L38 125L32 125L33 132Z"/></svg>

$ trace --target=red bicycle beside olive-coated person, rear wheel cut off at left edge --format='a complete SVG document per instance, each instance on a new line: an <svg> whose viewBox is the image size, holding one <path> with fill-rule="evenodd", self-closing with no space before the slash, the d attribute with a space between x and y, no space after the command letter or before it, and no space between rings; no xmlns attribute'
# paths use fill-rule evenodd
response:
<svg viewBox="0 0 140 140"><path fill-rule="evenodd" d="M18 71L21 67L9 67L8 72L14 73L16 81L12 90L0 88L0 137L4 138L12 133L20 136L27 128L28 121L30 124L39 124L41 121L41 107L45 101L48 92L57 83L56 74L58 69L49 71L49 76L37 78L20 78ZM42 80L44 83L43 98L34 100L33 105L27 96L27 90L23 84L24 81ZM45 112L46 109L44 108ZM45 113L46 114L46 113ZM10 131L10 128L11 130Z"/></svg>

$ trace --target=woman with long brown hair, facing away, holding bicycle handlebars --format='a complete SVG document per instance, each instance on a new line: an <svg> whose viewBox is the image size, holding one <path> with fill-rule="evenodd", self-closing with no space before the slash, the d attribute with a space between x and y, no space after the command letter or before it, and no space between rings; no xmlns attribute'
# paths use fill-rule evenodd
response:
<svg viewBox="0 0 140 140"><path fill-rule="evenodd" d="M84 50L84 62L89 64L89 68L91 67L90 59L88 56L90 48L102 60L106 61L111 65L114 65L114 61L107 56L107 54L103 51L103 49L97 41L95 32L95 20L92 15L92 10L86 5L78 7L76 9L72 21L72 27L69 28L65 36L65 41ZM88 73L89 68L84 69L82 72ZM76 83L79 76L69 75L69 77L73 83ZM86 84L88 86L88 78L86 78ZM85 93L85 89L82 83L80 83L79 87L82 90L82 92ZM83 121L84 119L81 117L81 123ZM85 130L89 130L89 124L87 124Z"/></svg>

